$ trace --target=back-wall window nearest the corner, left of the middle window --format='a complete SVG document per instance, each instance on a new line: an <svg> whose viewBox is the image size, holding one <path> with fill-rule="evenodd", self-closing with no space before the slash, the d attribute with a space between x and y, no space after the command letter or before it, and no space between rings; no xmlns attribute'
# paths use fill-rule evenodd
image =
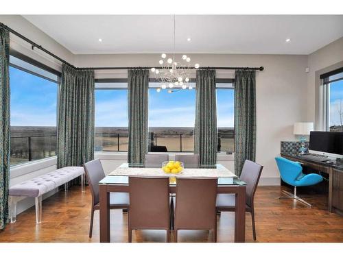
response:
<svg viewBox="0 0 343 257"><path fill-rule="evenodd" d="M95 84L95 151L128 151L128 84Z"/></svg>

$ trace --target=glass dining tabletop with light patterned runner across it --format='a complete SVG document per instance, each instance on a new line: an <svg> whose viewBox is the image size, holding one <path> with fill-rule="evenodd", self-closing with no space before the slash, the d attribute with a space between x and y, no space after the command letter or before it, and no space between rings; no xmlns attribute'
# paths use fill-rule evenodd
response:
<svg viewBox="0 0 343 257"><path fill-rule="evenodd" d="M130 169L132 168L132 169ZM117 172L117 170L122 169L121 172ZM139 173L135 173L134 170L139 169ZM123 163L121 164L115 171L111 172L109 175L106 175L104 179L102 179L99 184L128 184L128 178L130 175L138 175L139 176L149 176L154 169L157 175L161 175L161 177L169 176L169 184L175 185L177 183L178 174L172 173L164 173L160 166L158 167L145 167L145 164L131 164L131 163ZM197 170L201 169L201 174L197 175ZM133 171L133 173L132 173ZM215 164L215 165L208 165L208 164L200 164L198 168L192 169L184 169L185 173L181 173L182 178L217 178L218 179L218 186L228 186L228 185L237 185L237 186L244 186L246 182L240 180L235 174L231 171L226 169L222 164ZM187 175L187 171L190 171L189 175ZM216 175L216 171L220 171L218 176ZM209 175L206 175L209 173ZM211 175L213 173L213 175ZM226 174L227 173L227 174ZM156 173L152 173L156 176ZM222 176L221 176L222 175Z"/></svg>

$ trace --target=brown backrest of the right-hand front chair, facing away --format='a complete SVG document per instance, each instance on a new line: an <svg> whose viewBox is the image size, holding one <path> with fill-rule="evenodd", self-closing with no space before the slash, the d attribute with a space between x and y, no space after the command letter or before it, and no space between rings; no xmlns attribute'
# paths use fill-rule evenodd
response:
<svg viewBox="0 0 343 257"><path fill-rule="evenodd" d="M177 178L175 228L186 230L215 228L216 197L216 178Z"/></svg>

